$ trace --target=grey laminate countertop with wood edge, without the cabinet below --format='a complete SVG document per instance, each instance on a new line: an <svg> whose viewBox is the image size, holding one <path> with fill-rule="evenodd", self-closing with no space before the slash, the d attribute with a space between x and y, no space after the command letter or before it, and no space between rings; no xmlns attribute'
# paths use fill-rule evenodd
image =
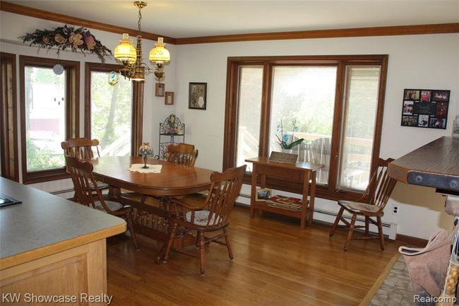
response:
<svg viewBox="0 0 459 306"><path fill-rule="evenodd" d="M0 177L0 194L22 204L0 208L0 269L105 239L126 221Z"/></svg>

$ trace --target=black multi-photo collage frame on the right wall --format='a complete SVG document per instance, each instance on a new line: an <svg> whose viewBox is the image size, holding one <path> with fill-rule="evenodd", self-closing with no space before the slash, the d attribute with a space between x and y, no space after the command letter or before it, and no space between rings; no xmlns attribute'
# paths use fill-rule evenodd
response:
<svg viewBox="0 0 459 306"><path fill-rule="evenodd" d="M402 126L446 129L450 90L403 90Z"/></svg>

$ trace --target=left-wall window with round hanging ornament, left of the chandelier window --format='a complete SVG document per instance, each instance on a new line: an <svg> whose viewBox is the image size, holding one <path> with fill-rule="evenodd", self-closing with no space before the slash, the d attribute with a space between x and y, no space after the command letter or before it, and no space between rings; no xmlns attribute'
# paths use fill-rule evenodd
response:
<svg viewBox="0 0 459 306"><path fill-rule="evenodd" d="M22 168L25 184L67 177L61 142L78 136L78 61L20 59ZM56 74L53 66L64 71Z"/></svg>

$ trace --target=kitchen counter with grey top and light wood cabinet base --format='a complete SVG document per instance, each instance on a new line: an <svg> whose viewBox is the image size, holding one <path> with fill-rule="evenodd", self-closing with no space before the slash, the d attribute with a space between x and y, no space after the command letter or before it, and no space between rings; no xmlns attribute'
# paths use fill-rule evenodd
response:
<svg viewBox="0 0 459 306"><path fill-rule="evenodd" d="M105 238L123 219L1 177L0 194L22 201L0 208L2 292L107 293Z"/></svg>

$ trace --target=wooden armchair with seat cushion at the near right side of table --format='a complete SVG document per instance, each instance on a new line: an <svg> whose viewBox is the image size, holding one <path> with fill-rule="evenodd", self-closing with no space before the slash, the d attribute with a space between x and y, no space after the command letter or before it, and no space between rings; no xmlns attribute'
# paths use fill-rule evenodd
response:
<svg viewBox="0 0 459 306"><path fill-rule="evenodd" d="M196 230L198 254L187 252L184 249L176 249L177 252L198 257L201 264L201 276L204 276L204 248L210 242L226 245L229 259L233 259L229 245L227 226L229 225L229 213L232 211L234 201L242 186L242 179L246 171L246 165L234 167L224 172L213 172L210 175L212 185L208 189L208 196L200 204L189 204L182 199L170 198L169 207L172 216L169 218L169 240L163 261L167 262L172 248L177 228L184 230ZM205 237L205 233L222 231L220 235ZM225 242L219 239L224 237Z"/></svg>

